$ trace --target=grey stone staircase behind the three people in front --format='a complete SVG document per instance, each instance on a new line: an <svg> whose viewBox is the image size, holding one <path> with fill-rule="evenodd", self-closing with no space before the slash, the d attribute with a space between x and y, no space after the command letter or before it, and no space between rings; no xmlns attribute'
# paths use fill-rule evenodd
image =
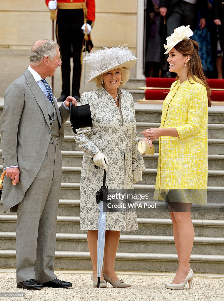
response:
<svg viewBox="0 0 224 301"><path fill-rule="evenodd" d="M2 109L1 109L2 110ZM0 111L1 114L2 111ZM161 106L136 105L138 133L159 126ZM208 119L208 203L194 206L195 240L191 267L199 273L224 273L224 110L210 110ZM150 123L149 123L150 121ZM143 182L135 193L153 193L158 160L158 142L153 157L144 156ZM79 188L83 152L75 144L70 123L65 124L62 149L62 183L58 209L55 268L91 270L86 231L79 230ZM0 166L2 169L2 166ZM138 230L121 232L116 270L175 272L178 266L172 223L164 202L157 209L137 211ZM16 214L3 214L0 205L0 268L16 266ZM25 247L25 246L24 246Z"/></svg>

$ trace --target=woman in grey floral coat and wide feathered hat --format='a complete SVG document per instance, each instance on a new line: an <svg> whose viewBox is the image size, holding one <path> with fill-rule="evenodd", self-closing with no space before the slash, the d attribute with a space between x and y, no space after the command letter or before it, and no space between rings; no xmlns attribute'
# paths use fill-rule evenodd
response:
<svg viewBox="0 0 224 301"><path fill-rule="evenodd" d="M85 57L91 66L88 82L95 81L98 89L85 92L81 97L80 104L90 105L93 126L78 129L75 140L84 151L80 180L80 229L88 230L94 287L97 284L99 216L96 191L103 184L103 171L107 170L108 189L124 190L133 189L132 163L144 170L143 158L137 147L133 98L129 92L120 90L129 79L129 69L136 60L127 47L104 48ZM95 169L95 165L104 168ZM136 212L106 213L104 273L101 274L100 287L107 286L104 280L114 287L130 286L118 279L114 272L114 262L120 231L137 228Z"/></svg>

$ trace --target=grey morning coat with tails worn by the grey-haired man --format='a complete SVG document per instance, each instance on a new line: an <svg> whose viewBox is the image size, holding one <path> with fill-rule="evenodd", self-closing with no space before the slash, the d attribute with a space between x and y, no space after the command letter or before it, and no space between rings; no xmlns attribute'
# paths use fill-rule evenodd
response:
<svg viewBox="0 0 224 301"><path fill-rule="evenodd" d="M4 212L18 204L32 184L44 160L51 138L46 96L29 70L17 78L5 91L4 110L0 120L3 166L18 165L20 182L11 185L10 178L3 182ZM59 123L59 145L64 138L63 123L69 110L58 108L54 100Z"/></svg>

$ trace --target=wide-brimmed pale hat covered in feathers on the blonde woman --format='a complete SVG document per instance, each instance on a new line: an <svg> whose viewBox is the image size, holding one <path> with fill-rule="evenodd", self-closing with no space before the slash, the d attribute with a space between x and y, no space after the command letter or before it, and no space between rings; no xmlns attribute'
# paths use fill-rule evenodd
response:
<svg viewBox="0 0 224 301"><path fill-rule="evenodd" d="M136 55L132 54L128 47L123 46L112 48L103 47L103 49L90 52L83 60L83 62L90 65L87 82L93 82L97 76L110 70L122 67L131 69L136 61Z"/></svg>

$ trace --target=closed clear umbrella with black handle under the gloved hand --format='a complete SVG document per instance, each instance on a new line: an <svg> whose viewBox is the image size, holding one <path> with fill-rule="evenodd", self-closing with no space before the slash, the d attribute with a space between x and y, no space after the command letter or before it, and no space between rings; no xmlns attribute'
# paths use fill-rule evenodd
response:
<svg viewBox="0 0 224 301"><path fill-rule="evenodd" d="M98 168L95 166L96 169ZM100 288L100 276L103 267L104 259L104 245L106 232L106 212L103 212L103 201L105 195L108 194L108 187L106 186L106 170L104 169L103 186L96 192L96 203L100 209L98 221L98 238L97 238L97 288Z"/></svg>

